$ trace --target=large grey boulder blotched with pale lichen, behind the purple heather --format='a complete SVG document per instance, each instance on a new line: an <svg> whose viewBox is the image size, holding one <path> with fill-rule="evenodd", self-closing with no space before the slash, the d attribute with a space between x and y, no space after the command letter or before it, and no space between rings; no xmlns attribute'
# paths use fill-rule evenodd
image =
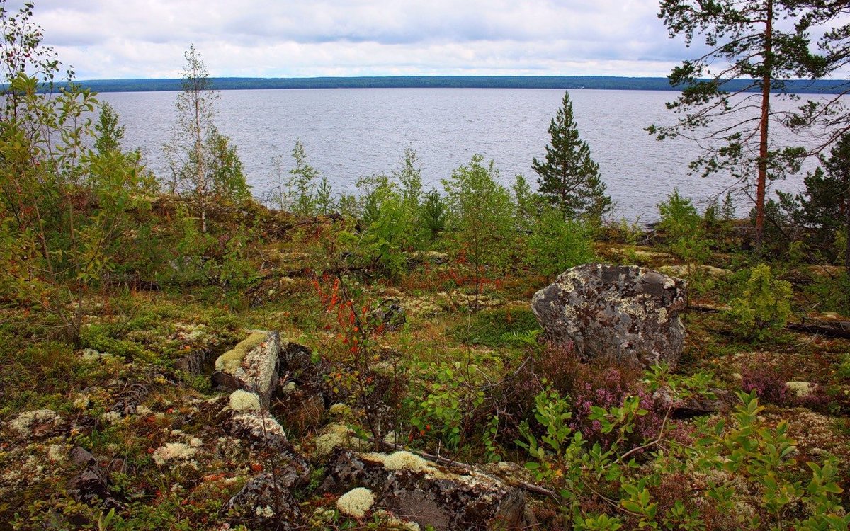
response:
<svg viewBox="0 0 850 531"><path fill-rule="evenodd" d="M686 283L647 268L589 263L537 291L531 309L552 342L598 357L675 365L685 329Z"/></svg>

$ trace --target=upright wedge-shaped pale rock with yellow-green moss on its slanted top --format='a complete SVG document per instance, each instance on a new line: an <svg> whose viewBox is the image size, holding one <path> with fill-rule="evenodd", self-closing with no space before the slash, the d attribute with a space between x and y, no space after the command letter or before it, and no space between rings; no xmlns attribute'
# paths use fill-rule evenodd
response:
<svg viewBox="0 0 850 531"><path fill-rule="evenodd" d="M280 360L280 334L255 331L215 361L212 381L230 390L257 393L268 405L277 385Z"/></svg>

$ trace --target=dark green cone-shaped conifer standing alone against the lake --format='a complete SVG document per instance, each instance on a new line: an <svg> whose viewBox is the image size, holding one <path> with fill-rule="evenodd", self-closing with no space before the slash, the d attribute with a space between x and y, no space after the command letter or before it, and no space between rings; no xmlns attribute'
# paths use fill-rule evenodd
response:
<svg viewBox="0 0 850 531"><path fill-rule="evenodd" d="M598 221L611 209L599 165L590 156L590 147L579 138L573 118L570 93L564 93L563 105L549 124L551 144L546 146L546 161L531 163L537 175L538 192L564 212L565 218L587 217Z"/></svg>

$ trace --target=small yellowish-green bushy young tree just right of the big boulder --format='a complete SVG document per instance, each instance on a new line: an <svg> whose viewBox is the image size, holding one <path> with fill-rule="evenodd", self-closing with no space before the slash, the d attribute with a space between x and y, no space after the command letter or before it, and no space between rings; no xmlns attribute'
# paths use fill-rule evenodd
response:
<svg viewBox="0 0 850 531"><path fill-rule="evenodd" d="M764 339L769 330L785 326L791 316L791 284L774 278L770 266L758 264L741 297L729 303L726 319L741 336Z"/></svg>

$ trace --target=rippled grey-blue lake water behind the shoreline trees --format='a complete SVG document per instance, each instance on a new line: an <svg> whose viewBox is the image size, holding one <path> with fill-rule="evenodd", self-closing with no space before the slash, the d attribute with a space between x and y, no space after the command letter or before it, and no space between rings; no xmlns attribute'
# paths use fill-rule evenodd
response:
<svg viewBox="0 0 850 531"><path fill-rule="evenodd" d="M176 93L102 93L126 127L125 148L140 147L157 175L168 174L161 146L170 136ZM581 138L591 147L615 216L655 220L656 205L674 187L697 201L722 193L727 179L689 175L698 147L683 138L658 142L645 131L651 123L675 120L665 102L674 92L571 90ZM255 196L284 178L292 167L292 145L300 138L309 163L323 172L335 192L356 191L357 178L399 167L405 146L422 163L425 189L466 164L473 154L496 161L502 183L522 172L536 183L533 157L544 156L547 128L564 92L547 89L368 88L234 90L221 93L216 123L238 147ZM791 107L779 102L776 105ZM797 190L802 175L776 184ZM745 206L744 202L740 203Z"/></svg>

